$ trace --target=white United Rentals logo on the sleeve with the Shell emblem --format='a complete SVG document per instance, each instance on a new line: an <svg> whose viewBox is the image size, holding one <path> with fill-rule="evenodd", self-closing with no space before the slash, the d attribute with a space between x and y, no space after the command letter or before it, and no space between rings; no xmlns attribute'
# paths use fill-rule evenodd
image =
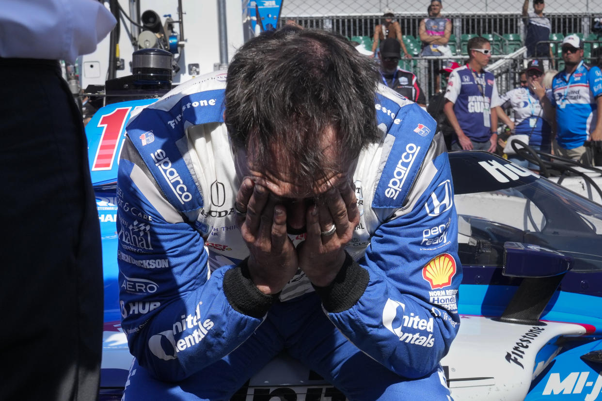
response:
<svg viewBox="0 0 602 401"><path fill-rule="evenodd" d="M400 319L397 318L397 310L398 308L402 308L402 317ZM410 316L406 316L406 305L399 301L393 301L393 299L387 299L385 308L382 310L382 324L385 326L388 331L399 337L400 341L405 341L409 344L420 345L423 347L432 347L435 343L435 337L431 334L433 332L433 318L430 317L429 320L420 319L418 316L414 316L414 313L410 313ZM399 326L393 327L394 322L397 322ZM402 328L414 329L413 331L418 330L418 332L409 333L403 332ZM422 335L421 331L427 331L429 333L428 337L426 335Z"/></svg>

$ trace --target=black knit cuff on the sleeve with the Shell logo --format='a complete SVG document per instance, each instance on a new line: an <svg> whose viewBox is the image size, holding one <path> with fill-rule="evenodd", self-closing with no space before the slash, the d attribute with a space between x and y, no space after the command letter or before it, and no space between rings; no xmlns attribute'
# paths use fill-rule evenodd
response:
<svg viewBox="0 0 602 401"><path fill-rule="evenodd" d="M340 313L355 305L370 281L368 271L361 268L347 252L345 255L343 267L332 283L326 287L314 286L324 309L330 313Z"/></svg>

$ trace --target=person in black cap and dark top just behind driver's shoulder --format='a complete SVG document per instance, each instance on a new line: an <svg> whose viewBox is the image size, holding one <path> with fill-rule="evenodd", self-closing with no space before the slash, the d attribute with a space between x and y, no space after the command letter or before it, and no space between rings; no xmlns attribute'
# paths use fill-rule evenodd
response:
<svg viewBox="0 0 602 401"><path fill-rule="evenodd" d="M401 46L396 39L386 38L380 43L380 78L386 86L426 109L426 98L418 79L398 66L400 54Z"/></svg>

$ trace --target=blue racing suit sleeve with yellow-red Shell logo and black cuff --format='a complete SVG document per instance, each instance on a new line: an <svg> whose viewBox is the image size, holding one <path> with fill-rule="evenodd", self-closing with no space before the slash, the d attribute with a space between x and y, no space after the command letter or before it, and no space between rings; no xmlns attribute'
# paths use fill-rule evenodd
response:
<svg viewBox="0 0 602 401"><path fill-rule="evenodd" d="M447 153L425 164L403 211L377 228L364 258L348 257L335 281L316 289L353 344L406 378L432 372L459 328L462 268Z"/></svg>

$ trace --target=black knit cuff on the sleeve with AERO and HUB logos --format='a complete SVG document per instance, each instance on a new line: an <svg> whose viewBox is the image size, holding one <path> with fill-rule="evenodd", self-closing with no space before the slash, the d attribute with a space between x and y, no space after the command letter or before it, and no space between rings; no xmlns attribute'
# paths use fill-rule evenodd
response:
<svg viewBox="0 0 602 401"><path fill-rule="evenodd" d="M247 260L224 274L223 289L235 311L261 319L278 295L267 295L257 289L247 266Z"/></svg>

